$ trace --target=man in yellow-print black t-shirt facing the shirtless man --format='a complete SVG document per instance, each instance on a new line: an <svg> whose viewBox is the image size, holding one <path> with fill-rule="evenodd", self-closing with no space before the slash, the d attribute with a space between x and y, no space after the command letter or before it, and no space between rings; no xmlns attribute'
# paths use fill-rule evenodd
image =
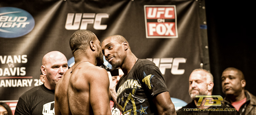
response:
<svg viewBox="0 0 256 115"><path fill-rule="evenodd" d="M120 67L124 72L116 85L117 103L124 115L176 115L164 76L153 62L138 59L120 35L106 37L101 49L112 69Z"/></svg>

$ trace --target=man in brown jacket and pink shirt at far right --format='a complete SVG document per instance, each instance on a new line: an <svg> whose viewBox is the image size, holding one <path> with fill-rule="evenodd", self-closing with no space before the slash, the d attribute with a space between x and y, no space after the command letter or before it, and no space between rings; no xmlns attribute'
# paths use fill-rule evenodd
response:
<svg viewBox="0 0 256 115"><path fill-rule="evenodd" d="M240 115L256 115L256 97L244 89L246 81L242 71L229 67L222 72L221 81L226 106L236 108Z"/></svg>

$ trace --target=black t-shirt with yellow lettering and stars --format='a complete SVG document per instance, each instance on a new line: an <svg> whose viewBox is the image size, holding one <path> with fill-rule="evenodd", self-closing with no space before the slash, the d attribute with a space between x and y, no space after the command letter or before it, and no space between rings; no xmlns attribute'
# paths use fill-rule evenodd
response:
<svg viewBox="0 0 256 115"><path fill-rule="evenodd" d="M159 68L147 59L138 59L127 76L116 85L117 103L123 115L157 114L153 98L168 91Z"/></svg>

